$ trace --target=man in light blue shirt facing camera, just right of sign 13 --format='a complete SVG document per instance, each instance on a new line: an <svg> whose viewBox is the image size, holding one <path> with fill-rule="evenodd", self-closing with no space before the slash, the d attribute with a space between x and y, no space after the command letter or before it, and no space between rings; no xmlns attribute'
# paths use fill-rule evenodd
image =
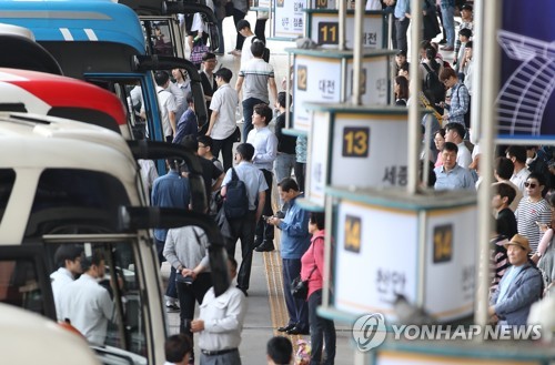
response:
<svg viewBox="0 0 555 365"><path fill-rule="evenodd" d="M435 190L458 190L474 189L474 179L472 173L461 168L456 163L456 154L458 148L453 142L445 142L442 150L443 166L434 169L435 172Z"/></svg>

